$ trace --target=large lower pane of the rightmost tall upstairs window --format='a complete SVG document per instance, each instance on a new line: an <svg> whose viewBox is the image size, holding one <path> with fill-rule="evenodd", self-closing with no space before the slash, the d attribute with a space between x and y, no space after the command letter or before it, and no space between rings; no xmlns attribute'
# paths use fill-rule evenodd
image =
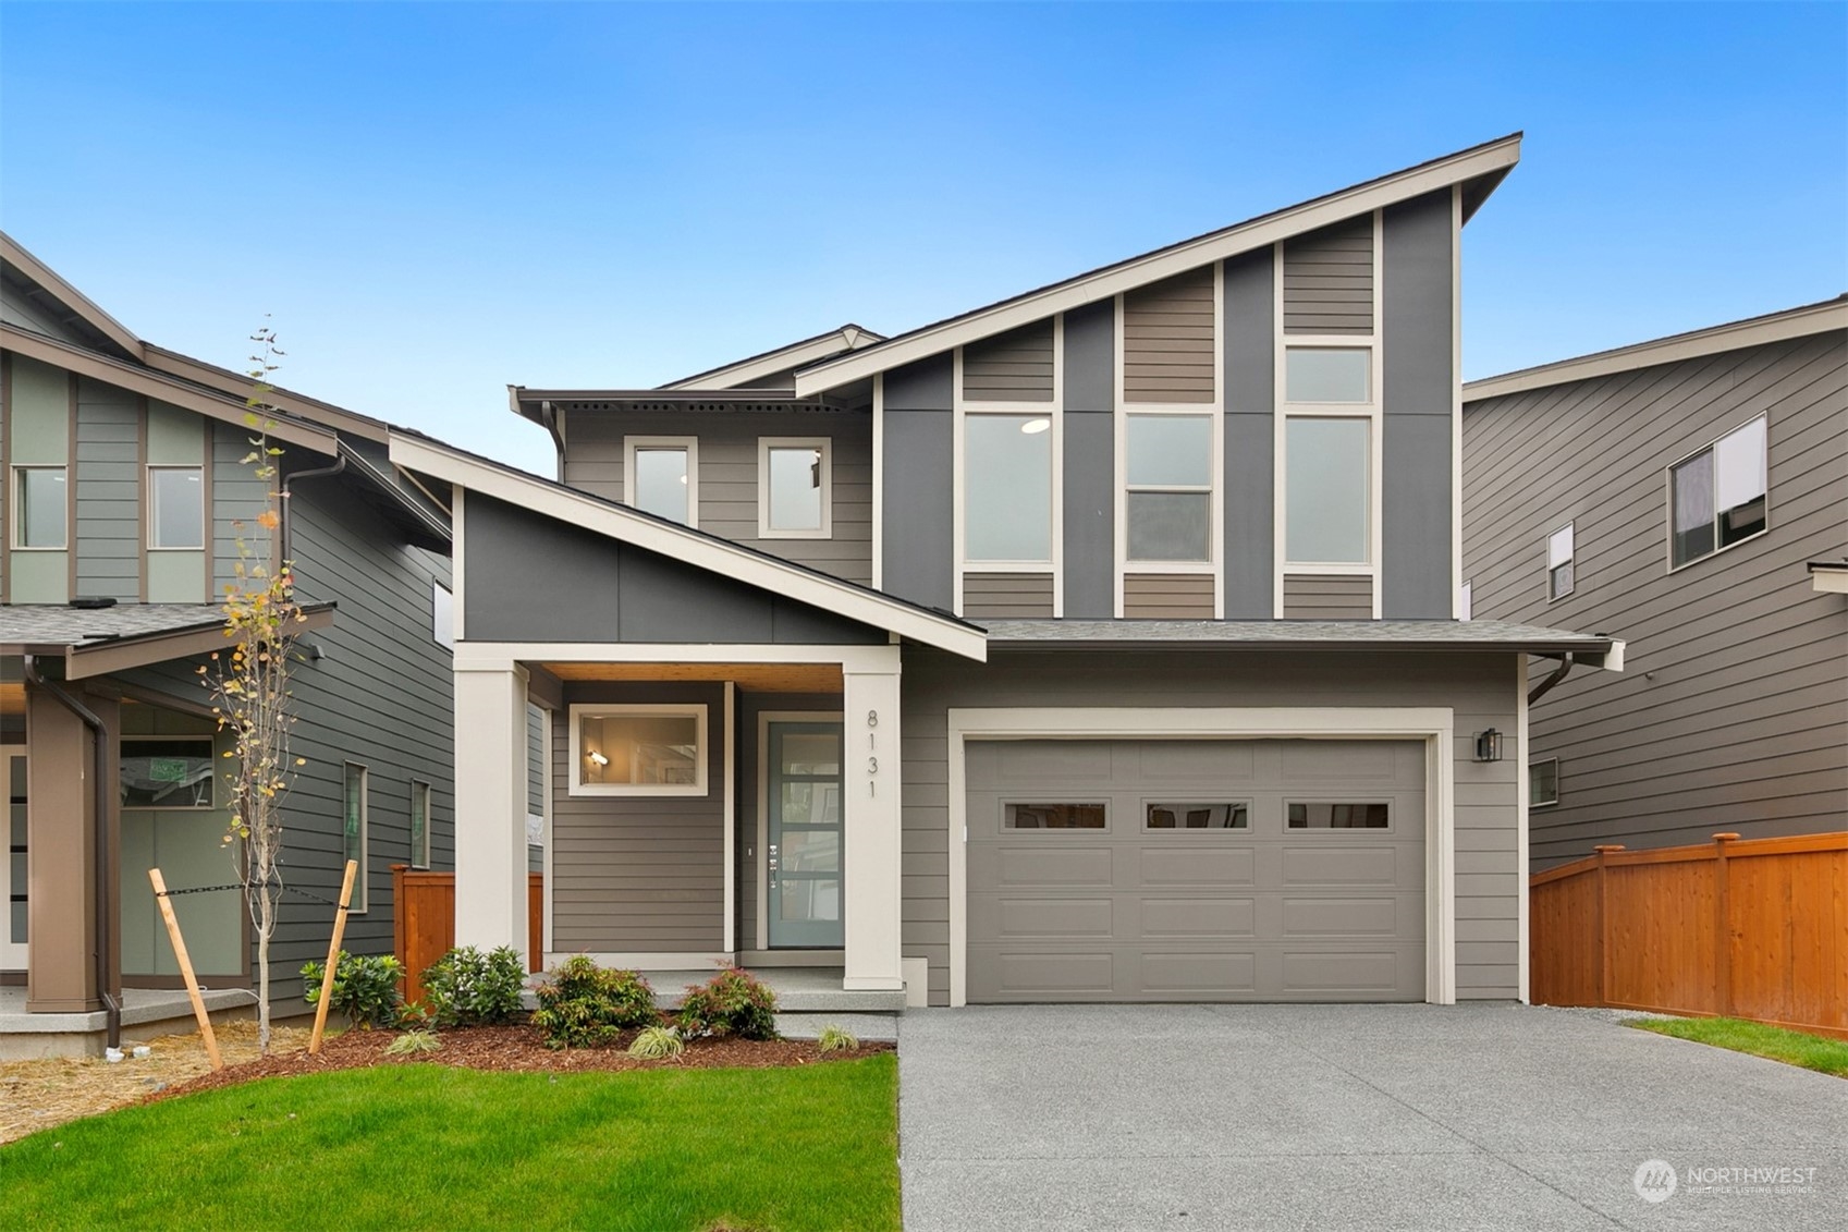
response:
<svg viewBox="0 0 1848 1232"><path fill-rule="evenodd" d="M1366 564L1371 557L1371 437L1362 418L1290 416L1284 425L1284 557Z"/></svg>

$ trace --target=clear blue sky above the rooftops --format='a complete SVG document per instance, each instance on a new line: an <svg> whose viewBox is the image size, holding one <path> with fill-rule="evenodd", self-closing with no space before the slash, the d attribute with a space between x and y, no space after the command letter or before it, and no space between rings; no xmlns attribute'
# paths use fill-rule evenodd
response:
<svg viewBox="0 0 1848 1232"><path fill-rule="evenodd" d="M1465 376L1848 290L1848 6L22 4L0 226L549 472L508 383L894 333L1526 129Z"/></svg>

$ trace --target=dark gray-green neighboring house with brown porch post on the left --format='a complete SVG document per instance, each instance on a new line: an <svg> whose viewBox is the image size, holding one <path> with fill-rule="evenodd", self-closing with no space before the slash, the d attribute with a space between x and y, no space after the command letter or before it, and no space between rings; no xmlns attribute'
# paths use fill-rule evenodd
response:
<svg viewBox="0 0 1848 1232"><path fill-rule="evenodd" d="M177 986L150 866L176 890L237 879L227 740L198 666L224 646L216 603L240 535L296 561L312 612L292 679L307 764L285 801L285 882L333 899L359 858L346 945L390 953L390 866L451 866L447 514L394 472L384 424L277 390L290 496L272 542L255 524L270 485L240 462L249 392L142 342L0 237L0 980L26 986L30 1014ZM100 751L67 696L100 720ZM240 895L172 903L201 980L249 988ZM325 903L283 897L283 1012L331 925Z"/></svg>

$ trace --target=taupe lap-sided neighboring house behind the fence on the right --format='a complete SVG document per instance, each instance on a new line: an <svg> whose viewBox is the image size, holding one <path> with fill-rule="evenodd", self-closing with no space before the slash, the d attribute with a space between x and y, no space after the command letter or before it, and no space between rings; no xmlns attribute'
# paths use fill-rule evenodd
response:
<svg viewBox="0 0 1848 1232"><path fill-rule="evenodd" d="M1536 866L1848 829L1848 298L1464 398L1475 616L1628 642L1534 707Z"/></svg>

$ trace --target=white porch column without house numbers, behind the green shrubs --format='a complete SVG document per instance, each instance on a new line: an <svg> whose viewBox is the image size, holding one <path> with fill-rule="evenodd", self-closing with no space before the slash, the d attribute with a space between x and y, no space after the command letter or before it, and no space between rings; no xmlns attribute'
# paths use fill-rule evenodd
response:
<svg viewBox="0 0 1848 1232"><path fill-rule="evenodd" d="M455 686L456 945L529 955L527 670L458 664Z"/></svg>

